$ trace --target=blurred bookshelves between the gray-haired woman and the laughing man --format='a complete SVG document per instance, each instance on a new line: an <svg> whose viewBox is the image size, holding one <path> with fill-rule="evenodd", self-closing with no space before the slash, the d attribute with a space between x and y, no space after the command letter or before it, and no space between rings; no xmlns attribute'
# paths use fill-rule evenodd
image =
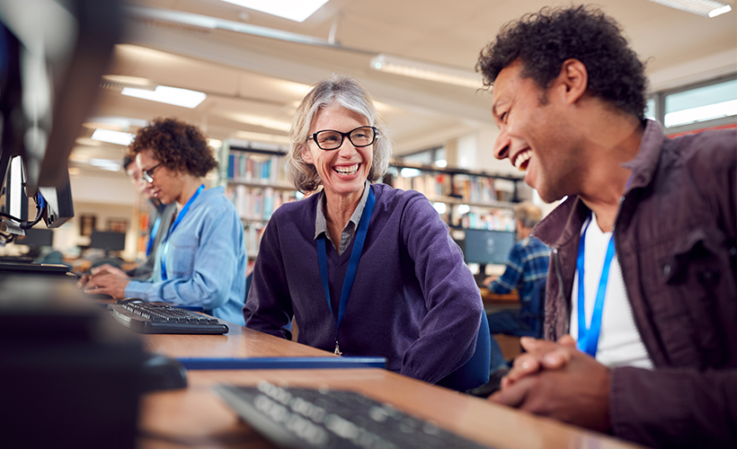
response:
<svg viewBox="0 0 737 449"><path fill-rule="evenodd" d="M431 200L451 229L514 231L521 176L395 161L384 182Z"/></svg>

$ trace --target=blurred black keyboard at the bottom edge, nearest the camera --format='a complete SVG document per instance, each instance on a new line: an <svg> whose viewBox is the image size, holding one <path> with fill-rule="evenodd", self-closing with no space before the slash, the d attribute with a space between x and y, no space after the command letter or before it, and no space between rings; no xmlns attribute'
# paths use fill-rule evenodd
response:
<svg viewBox="0 0 737 449"><path fill-rule="evenodd" d="M218 395L253 430L282 448L486 447L358 392L219 384Z"/></svg>

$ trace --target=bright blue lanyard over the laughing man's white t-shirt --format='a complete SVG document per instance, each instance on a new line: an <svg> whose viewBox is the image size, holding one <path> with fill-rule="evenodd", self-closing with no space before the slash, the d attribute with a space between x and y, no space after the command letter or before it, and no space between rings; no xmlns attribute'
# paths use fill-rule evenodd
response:
<svg viewBox="0 0 737 449"><path fill-rule="evenodd" d="M589 214L589 223L583 228L581 242L578 244L578 258L576 259L576 269L578 269L578 342L576 347L586 352L591 357L596 357L596 350L599 346L599 332L601 331L601 313L604 310L604 296L607 294L607 284L609 280L609 268L611 261L614 259L614 232L609 238L607 247L607 255L604 257L604 268L601 269L601 277L599 277L599 289L596 292L596 302L594 310L591 314L590 326L586 328L586 312L584 308L583 298L583 254L586 240L586 231L591 224L591 215Z"/></svg>

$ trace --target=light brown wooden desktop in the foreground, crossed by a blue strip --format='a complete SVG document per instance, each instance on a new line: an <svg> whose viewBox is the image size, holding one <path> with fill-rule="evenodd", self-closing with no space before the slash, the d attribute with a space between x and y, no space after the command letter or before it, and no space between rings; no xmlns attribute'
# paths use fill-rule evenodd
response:
<svg viewBox="0 0 737 449"><path fill-rule="evenodd" d="M173 357L332 355L236 326L226 336L147 335L145 340L148 348ZM254 385L262 380L362 392L377 401L392 403L397 409L431 419L459 435L500 449L633 447L608 436L376 368L190 371L187 389L149 393L144 397L140 417L143 436L139 439L139 447L273 447L240 422L211 391L216 383Z"/></svg>

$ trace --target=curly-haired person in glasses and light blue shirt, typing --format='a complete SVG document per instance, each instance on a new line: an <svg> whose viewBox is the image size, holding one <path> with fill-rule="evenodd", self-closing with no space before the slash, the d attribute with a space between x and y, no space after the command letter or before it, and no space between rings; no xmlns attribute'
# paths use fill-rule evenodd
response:
<svg viewBox="0 0 737 449"><path fill-rule="evenodd" d="M207 313L244 324L245 243L241 220L222 187L205 189L218 163L200 131L176 119L156 119L138 131L129 150L163 204L177 211L146 281L102 268L85 279L85 292L114 298L200 305Z"/></svg>

